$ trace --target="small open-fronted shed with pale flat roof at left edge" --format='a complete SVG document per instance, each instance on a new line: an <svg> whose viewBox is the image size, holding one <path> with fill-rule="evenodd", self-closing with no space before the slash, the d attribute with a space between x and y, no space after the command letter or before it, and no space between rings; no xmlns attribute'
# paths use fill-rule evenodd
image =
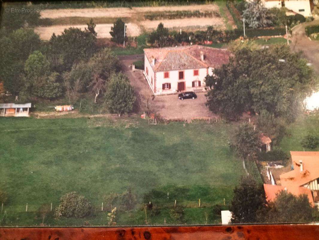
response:
<svg viewBox="0 0 319 240"><path fill-rule="evenodd" d="M0 116L28 117L31 103L0 103Z"/></svg>

